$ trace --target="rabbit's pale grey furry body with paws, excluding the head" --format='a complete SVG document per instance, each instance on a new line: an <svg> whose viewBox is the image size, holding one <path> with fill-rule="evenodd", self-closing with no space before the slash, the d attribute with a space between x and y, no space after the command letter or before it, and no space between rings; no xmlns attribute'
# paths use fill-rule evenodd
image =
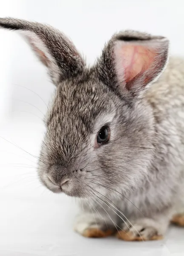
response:
<svg viewBox="0 0 184 256"><path fill-rule="evenodd" d="M154 118L154 142L155 154L150 166L150 172L147 179L142 180L139 188L132 189L124 198L119 190L107 195L110 199L110 208L107 206L106 199L100 204L105 208L101 209L100 205L91 201L85 204L85 210L88 212L79 215L76 221L75 229L85 236L106 236L109 233L99 233L99 230L105 229L107 222L110 228L114 228L112 221L116 224L122 223L123 218L128 225L131 224L144 239L150 231L150 234L163 234L173 219L177 224L184 225L184 60L171 57L167 68L147 91L144 99L151 105L152 115ZM146 103L146 105L147 105ZM115 194L117 196L115 196ZM128 198L128 199L127 199ZM82 205L83 209L84 205ZM99 213L96 216L90 215L89 212L95 209L103 215L99 221ZM118 221L117 215L118 213ZM124 212L124 216L120 211ZM111 216L106 217L106 212ZM95 213L94 213L95 214ZM82 216L82 217L81 217ZM86 217L87 216L87 217ZM95 218L97 220L95 220ZM128 220L126 220L128 218ZM180 219L182 219L180 223ZM100 222L99 227L95 221ZM120 222L119 222L120 221ZM130 224L130 222L131 224ZM89 223L92 223L89 224ZM101 226L102 225L102 226ZM88 228L86 228L88 226ZM90 230L92 226L92 230ZM117 227L121 226L119 224ZM83 227L83 228L82 228ZM94 230L97 227L97 230ZM123 224L124 230L128 228ZM144 230L143 230L144 229ZM141 232L141 230L143 230ZM142 237L136 232L135 236L129 232L129 235L120 233L119 235L125 240L141 240ZM138 235L138 236L137 236ZM148 236L149 237L149 236ZM153 236L152 239L159 239L160 236Z"/></svg>

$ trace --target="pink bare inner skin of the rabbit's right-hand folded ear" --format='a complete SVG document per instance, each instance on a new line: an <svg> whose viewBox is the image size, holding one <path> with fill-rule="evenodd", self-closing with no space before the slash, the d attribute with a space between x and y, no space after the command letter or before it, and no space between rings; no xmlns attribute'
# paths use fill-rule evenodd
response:
<svg viewBox="0 0 184 256"><path fill-rule="evenodd" d="M117 46L116 46L117 47ZM154 64L157 52L147 45L124 44L115 49L116 69L126 84ZM148 79L149 80L149 79Z"/></svg>

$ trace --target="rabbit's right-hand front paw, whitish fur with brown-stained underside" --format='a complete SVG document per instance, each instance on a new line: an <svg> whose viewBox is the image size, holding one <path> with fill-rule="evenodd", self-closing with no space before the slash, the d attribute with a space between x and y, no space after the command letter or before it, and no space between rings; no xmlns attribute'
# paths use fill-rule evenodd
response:
<svg viewBox="0 0 184 256"><path fill-rule="evenodd" d="M122 230L117 233L119 239L125 241L147 241L163 239L162 227L152 219L143 218L131 221L129 228L123 224Z"/></svg>

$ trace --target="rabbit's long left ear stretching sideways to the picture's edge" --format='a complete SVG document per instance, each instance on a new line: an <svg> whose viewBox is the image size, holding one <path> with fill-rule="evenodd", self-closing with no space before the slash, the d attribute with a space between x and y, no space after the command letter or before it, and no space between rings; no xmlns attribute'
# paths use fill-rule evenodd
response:
<svg viewBox="0 0 184 256"><path fill-rule="evenodd" d="M56 85L83 71L85 63L77 49L57 29L13 18L0 18L0 27L20 31L25 36Z"/></svg>

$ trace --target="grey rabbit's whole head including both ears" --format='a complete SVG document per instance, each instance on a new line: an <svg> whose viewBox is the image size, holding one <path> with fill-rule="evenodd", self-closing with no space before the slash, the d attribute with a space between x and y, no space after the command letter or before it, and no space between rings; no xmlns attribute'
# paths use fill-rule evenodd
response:
<svg viewBox="0 0 184 256"><path fill-rule="evenodd" d="M24 35L56 86L40 153L42 183L83 198L140 186L154 155L145 95L167 63L168 40L120 32L87 68L72 42L50 26L12 18L0 26Z"/></svg>

